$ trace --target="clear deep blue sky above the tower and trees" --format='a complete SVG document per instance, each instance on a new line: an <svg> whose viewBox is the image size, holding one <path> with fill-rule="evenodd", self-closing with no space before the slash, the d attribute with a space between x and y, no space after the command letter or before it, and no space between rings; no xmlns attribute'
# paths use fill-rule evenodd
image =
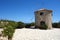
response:
<svg viewBox="0 0 60 40"><path fill-rule="evenodd" d="M0 19L34 22L34 11L53 10L52 22L60 21L60 0L0 0Z"/></svg>

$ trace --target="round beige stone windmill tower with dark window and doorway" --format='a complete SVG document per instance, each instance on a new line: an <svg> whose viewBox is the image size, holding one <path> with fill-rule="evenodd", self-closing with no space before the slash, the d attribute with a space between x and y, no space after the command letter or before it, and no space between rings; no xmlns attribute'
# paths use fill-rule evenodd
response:
<svg viewBox="0 0 60 40"><path fill-rule="evenodd" d="M39 28L42 24L46 24L48 29L52 28L52 10L40 9L35 13L35 27Z"/></svg>

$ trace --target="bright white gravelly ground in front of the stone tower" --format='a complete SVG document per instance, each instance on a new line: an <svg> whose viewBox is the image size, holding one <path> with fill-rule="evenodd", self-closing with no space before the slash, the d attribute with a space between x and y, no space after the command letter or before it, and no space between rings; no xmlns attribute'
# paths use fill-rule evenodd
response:
<svg viewBox="0 0 60 40"><path fill-rule="evenodd" d="M12 40L60 40L60 29L16 29Z"/></svg>

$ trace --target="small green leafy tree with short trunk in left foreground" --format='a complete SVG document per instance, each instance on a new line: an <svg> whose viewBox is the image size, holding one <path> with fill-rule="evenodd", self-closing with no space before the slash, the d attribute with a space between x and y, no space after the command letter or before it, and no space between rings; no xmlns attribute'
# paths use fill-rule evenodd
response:
<svg viewBox="0 0 60 40"><path fill-rule="evenodd" d="M3 30L3 36L8 36L8 40L12 40L15 29L12 26L6 26L3 28Z"/></svg>

